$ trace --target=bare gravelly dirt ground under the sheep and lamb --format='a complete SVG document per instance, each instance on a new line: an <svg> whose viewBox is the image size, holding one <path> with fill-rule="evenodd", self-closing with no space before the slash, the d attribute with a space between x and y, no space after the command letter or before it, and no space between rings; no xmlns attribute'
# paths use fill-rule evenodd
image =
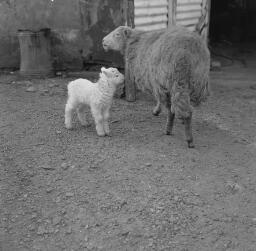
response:
<svg viewBox="0 0 256 251"><path fill-rule="evenodd" d="M64 128L69 78L2 75L0 250L256 250L254 66L211 73L195 149L145 95L115 99L99 138Z"/></svg>

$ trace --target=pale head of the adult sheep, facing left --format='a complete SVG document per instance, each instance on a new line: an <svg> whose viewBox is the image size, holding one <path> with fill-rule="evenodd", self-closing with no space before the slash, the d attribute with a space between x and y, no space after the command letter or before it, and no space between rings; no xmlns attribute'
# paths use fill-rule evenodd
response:
<svg viewBox="0 0 256 251"><path fill-rule="evenodd" d="M130 27L119 26L103 38L102 46L104 50L120 51L124 54L125 44L131 33L132 29Z"/></svg>

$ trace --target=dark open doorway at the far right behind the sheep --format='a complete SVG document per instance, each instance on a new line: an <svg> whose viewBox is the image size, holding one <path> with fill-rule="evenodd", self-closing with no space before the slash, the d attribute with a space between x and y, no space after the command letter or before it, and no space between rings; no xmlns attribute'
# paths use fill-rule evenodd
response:
<svg viewBox="0 0 256 251"><path fill-rule="evenodd" d="M223 64L246 65L246 53L256 50L256 1L211 0L209 42Z"/></svg>

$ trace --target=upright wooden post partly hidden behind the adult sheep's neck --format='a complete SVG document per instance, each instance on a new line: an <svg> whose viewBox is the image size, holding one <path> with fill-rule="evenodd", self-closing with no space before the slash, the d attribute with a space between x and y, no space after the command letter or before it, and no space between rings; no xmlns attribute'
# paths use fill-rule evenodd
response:
<svg viewBox="0 0 256 251"><path fill-rule="evenodd" d="M126 6L126 24L127 26L134 28L134 0L124 0ZM129 74L129 65L127 64L126 58L125 60L125 97L129 102L133 102L136 100L136 86L134 80L130 78Z"/></svg>

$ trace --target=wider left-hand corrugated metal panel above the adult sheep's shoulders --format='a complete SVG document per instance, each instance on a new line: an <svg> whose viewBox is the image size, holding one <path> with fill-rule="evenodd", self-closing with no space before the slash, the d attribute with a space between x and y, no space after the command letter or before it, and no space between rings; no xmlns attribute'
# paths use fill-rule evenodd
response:
<svg viewBox="0 0 256 251"><path fill-rule="evenodd" d="M134 0L134 15L137 29L164 29L168 23L168 0Z"/></svg>

